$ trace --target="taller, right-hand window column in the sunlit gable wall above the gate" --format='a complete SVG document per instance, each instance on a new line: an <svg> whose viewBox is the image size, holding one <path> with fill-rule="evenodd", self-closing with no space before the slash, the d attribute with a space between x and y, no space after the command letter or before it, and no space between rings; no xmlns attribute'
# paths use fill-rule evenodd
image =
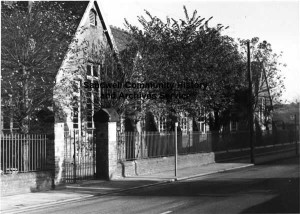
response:
<svg viewBox="0 0 300 214"><path fill-rule="evenodd" d="M87 65L87 82L89 84L98 83L99 65ZM86 91L86 110L87 110L87 128L94 128L93 115L95 108L100 104L99 88L87 88Z"/></svg>

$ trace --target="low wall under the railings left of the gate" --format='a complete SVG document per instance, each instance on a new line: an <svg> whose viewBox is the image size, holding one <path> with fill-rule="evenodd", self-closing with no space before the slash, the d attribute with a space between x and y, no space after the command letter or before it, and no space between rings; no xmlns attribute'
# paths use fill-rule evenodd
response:
<svg viewBox="0 0 300 214"><path fill-rule="evenodd" d="M1 196L49 190L52 188L51 171L1 175Z"/></svg>

